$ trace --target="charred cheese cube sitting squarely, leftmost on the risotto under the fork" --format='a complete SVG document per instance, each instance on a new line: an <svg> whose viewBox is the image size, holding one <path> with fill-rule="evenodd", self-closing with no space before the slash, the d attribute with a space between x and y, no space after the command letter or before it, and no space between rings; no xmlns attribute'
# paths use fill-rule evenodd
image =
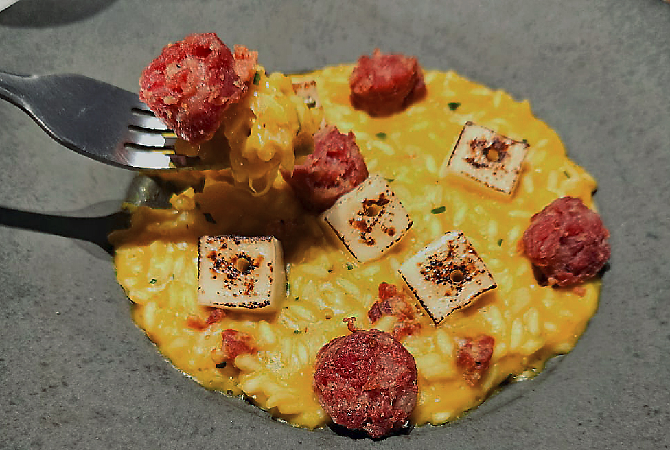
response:
<svg viewBox="0 0 670 450"><path fill-rule="evenodd" d="M272 236L202 236L198 303L244 312L277 310L286 290L281 243Z"/></svg>

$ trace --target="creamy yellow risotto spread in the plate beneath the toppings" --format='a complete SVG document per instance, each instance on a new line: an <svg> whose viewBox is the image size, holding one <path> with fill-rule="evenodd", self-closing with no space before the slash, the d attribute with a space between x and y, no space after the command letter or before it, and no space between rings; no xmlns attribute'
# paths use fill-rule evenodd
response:
<svg viewBox="0 0 670 450"><path fill-rule="evenodd" d="M556 198L578 198L593 209L596 185L526 101L451 71L428 70L424 97L396 114L372 117L351 106L352 69L328 67L307 78L316 80L325 121L353 132L370 174L385 179L411 217L413 226L398 244L360 263L282 177L263 196L207 179L202 189L175 195L171 209L135 211L132 227L113 236L117 277L139 327L206 388L246 396L292 425L321 427L330 417L314 392L317 353L353 325L393 333L415 359L418 392L410 421L445 423L510 375L531 377L549 357L570 351L584 331L597 309L599 279L577 287L540 285L522 236L531 217ZM511 195L448 170L469 122L527 144ZM389 298L401 296L401 266L452 231L476 249L494 288L437 325L413 301L400 315L383 313L380 285L400 289L391 289ZM286 295L277 311L246 314L198 304L198 239L231 234L281 241ZM227 339L237 346L227 346Z"/></svg>

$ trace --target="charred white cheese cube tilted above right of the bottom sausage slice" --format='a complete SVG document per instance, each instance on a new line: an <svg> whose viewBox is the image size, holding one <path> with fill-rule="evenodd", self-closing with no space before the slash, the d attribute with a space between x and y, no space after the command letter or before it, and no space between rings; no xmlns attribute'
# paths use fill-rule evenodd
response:
<svg viewBox="0 0 670 450"><path fill-rule="evenodd" d="M496 281L460 231L450 231L399 269L435 324L496 287Z"/></svg>

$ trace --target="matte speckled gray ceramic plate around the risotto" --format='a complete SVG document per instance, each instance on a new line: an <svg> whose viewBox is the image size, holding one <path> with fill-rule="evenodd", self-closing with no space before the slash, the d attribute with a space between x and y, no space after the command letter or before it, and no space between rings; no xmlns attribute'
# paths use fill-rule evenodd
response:
<svg viewBox="0 0 670 450"><path fill-rule="evenodd" d="M196 31L258 49L271 70L380 47L529 98L599 180L613 248L599 311L575 351L456 423L381 442L294 429L201 388L155 351L91 243L113 219L91 217L119 209L132 174L65 150L0 102L1 448L670 445L670 5L22 0L0 13L0 69L136 90L163 45Z"/></svg>

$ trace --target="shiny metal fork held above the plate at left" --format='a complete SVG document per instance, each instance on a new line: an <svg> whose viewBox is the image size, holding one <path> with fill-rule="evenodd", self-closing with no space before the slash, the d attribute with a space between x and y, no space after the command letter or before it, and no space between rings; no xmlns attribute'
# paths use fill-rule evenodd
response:
<svg viewBox="0 0 670 450"><path fill-rule="evenodd" d="M132 170L173 169L176 137L136 93L82 75L0 71L0 98L27 112L52 138L84 156Z"/></svg>

